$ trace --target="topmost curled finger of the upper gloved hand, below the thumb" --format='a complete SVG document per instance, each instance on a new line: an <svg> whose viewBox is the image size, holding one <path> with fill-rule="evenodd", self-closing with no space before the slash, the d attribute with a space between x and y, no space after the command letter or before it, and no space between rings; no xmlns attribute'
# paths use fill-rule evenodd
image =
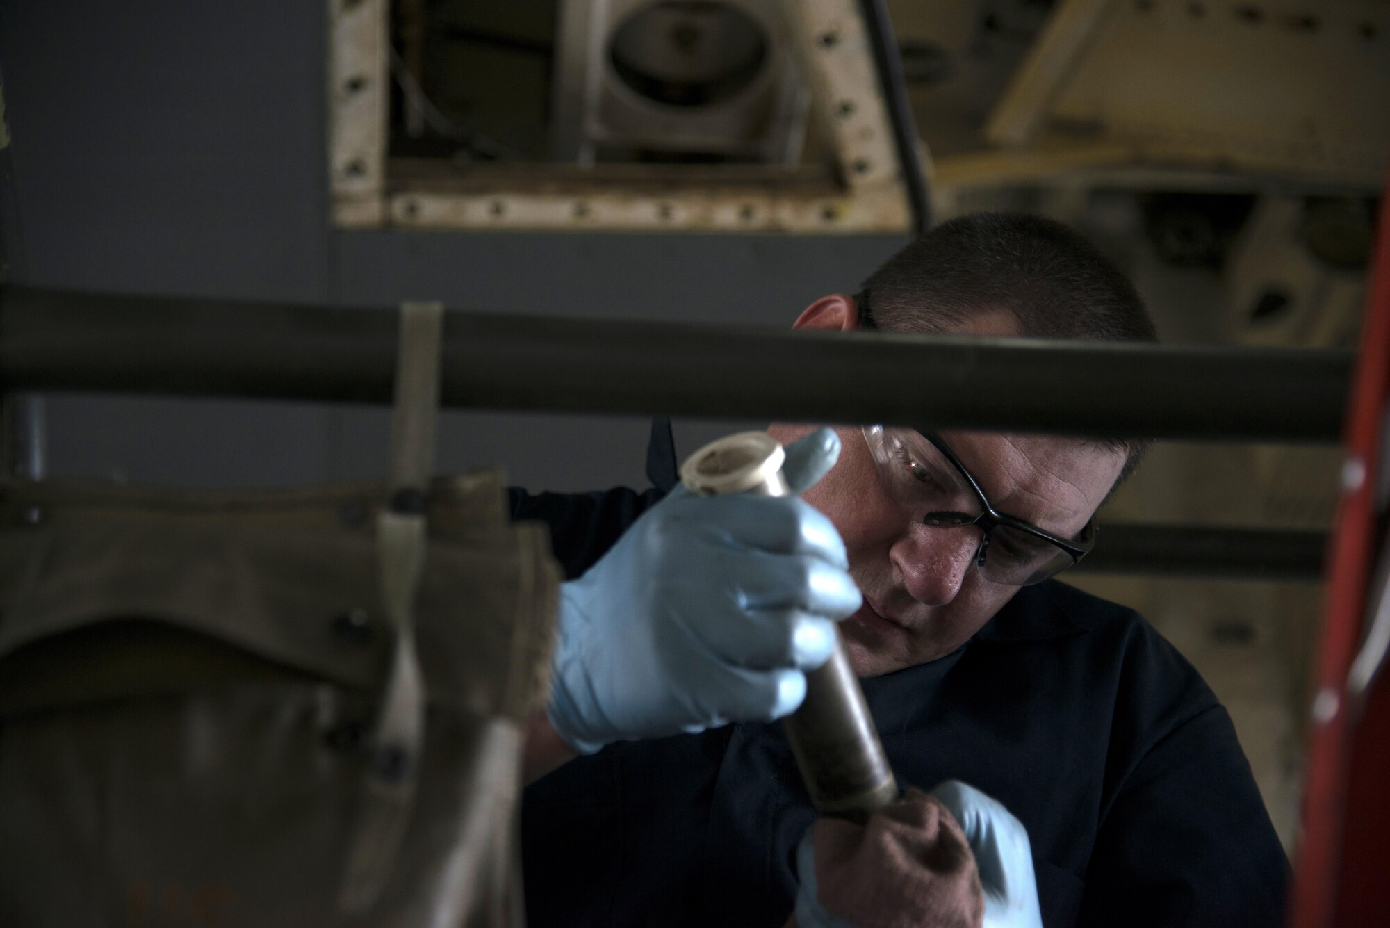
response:
<svg viewBox="0 0 1390 928"><path fill-rule="evenodd" d="M849 564L834 524L816 507L790 496L692 496L673 504L666 518L671 533L698 533L714 546Z"/></svg>

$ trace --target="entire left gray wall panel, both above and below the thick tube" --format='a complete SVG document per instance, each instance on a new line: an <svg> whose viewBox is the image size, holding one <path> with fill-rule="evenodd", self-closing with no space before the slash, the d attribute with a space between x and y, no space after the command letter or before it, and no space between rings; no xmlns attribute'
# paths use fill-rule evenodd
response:
<svg viewBox="0 0 1390 928"><path fill-rule="evenodd" d="M322 7L21 0L0 10L28 283L327 296ZM327 475L321 407L51 397L54 475Z"/></svg>

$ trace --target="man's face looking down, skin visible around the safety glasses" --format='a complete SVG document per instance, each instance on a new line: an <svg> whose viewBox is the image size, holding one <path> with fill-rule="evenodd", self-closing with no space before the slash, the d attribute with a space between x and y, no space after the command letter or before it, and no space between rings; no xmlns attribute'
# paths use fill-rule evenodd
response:
<svg viewBox="0 0 1390 928"><path fill-rule="evenodd" d="M967 335L1012 335L1012 317L984 318ZM781 440L806 429L773 426ZM840 460L802 499L834 522L849 574L865 596L841 624L851 664L877 677L949 654L1019 590L980 575L980 529L915 524L884 489L863 432L837 428ZM1074 439L941 432L990 503L1062 538L1074 538L1115 485L1125 454Z"/></svg>

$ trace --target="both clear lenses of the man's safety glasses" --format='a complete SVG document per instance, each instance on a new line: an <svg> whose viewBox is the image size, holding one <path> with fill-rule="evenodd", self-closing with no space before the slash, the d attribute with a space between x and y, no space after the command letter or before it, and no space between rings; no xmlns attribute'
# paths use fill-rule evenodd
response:
<svg viewBox="0 0 1390 928"><path fill-rule="evenodd" d="M960 471L920 433L872 425L865 428L865 440L884 488L913 522L955 528L972 525L984 511ZM1027 586L1073 563L1070 554L1044 538L997 525L980 572L995 583Z"/></svg>

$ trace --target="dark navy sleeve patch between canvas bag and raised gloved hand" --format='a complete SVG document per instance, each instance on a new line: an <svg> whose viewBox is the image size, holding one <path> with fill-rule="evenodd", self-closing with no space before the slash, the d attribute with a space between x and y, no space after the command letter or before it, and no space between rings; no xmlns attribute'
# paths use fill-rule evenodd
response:
<svg viewBox="0 0 1390 928"><path fill-rule="evenodd" d="M550 527L550 550L566 579L574 579L613 547L642 513L662 500L662 490L642 493L617 488L598 493L537 493L507 490L513 521Z"/></svg>

